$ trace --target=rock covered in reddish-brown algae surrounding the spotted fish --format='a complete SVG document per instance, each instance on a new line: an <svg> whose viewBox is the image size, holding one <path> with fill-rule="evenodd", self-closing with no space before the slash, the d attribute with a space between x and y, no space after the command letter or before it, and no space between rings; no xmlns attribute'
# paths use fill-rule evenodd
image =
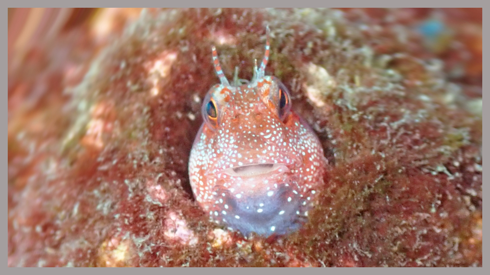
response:
<svg viewBox="0 0 490 275"><path fill-rule="evenodd" d="M151 9L33 47L9 70L8 266L482 266L481 33L461 43L451 12ZM445 53L418 33L435 17ZM209 49L250 79L266 25L267 73L332 167L302 229L244 238L197 206L187 162Z"/></svg>

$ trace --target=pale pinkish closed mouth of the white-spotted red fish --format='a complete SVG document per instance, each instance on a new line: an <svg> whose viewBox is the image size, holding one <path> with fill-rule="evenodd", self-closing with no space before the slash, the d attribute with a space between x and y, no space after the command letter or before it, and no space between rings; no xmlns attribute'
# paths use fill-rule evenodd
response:
<svg viewBox="0 0 490 275"><path fill-rule="evenodd" d="M222 172L232 177L251 178L262 177L271 173L287 173L290 172L290 169L283 163L261 163L236 166Z"/></svg>

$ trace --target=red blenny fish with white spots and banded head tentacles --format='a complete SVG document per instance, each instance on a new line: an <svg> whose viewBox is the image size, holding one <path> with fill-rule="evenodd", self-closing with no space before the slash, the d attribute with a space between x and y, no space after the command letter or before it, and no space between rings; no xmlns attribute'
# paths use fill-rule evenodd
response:
<svg viewBox="0 0 490 275"><path fill-rule="evenodd" d="M299 229L321 184L327 160L319 139L291 110L281 81L266 76L265 55L252 80L230 85L216 48L213 63L221 84L213 86L201 108L204 122L189 159L196 201L211 219L239 230L270 236Z"/></svg>

